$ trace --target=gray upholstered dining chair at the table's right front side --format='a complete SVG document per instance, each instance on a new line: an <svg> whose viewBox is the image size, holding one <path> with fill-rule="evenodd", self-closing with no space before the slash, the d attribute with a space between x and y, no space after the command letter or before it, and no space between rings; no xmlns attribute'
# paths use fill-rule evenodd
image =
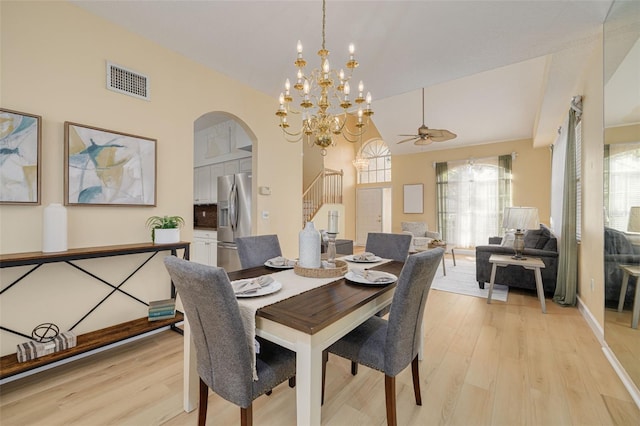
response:
<svg viewBox="0 0 640 426"><path fill-rule="evenodd" d="M422 405L418 349L427 294L444 250L436 248L410 255L398 277L389 320L373 316L327 348L327 352L384 373L387 424L395 426L395 378L409 364L416 404ZM322 364L322 398L327 356Z"/></svg>

